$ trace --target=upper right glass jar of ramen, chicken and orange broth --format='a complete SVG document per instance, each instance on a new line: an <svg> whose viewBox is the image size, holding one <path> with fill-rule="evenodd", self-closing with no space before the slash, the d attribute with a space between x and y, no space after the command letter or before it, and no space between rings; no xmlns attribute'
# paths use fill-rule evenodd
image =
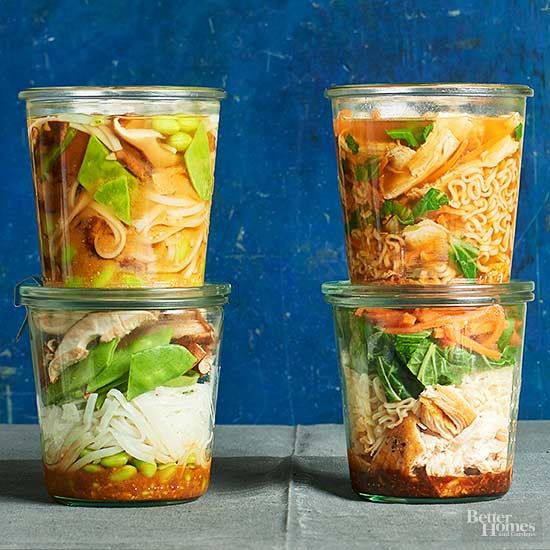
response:
<svg viewBox="0 0 550 550"><path fill-rule="evenodd" d="M336 86L350 280L510 280L527 86Z"/></svg>

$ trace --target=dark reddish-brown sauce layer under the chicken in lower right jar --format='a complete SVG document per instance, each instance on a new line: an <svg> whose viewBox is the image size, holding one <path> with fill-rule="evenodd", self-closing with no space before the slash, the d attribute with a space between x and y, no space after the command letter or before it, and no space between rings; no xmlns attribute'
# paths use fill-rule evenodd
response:
<svg viewBox="0 0 550 550"><path fill-rule="evenodd" d="M464 476L429 476L423 470L417 475L396 471L366 471L358 467L349 453L350 476L353 490L399 498L464 498L497 497L504 495L512 483L512 469L500 472Z"/></svg>

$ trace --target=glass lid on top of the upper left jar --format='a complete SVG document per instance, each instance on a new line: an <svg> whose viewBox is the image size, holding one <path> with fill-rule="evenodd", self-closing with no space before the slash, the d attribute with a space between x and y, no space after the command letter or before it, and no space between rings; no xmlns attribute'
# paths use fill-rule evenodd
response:
<svg viewBox="0 0 550 550"><path fill-rule="evenodd" d="M227 96L222 88L201 86L56 86L26 88L19 92L25 101L51 102L89 99L197 99L221 101Z"/></svg>

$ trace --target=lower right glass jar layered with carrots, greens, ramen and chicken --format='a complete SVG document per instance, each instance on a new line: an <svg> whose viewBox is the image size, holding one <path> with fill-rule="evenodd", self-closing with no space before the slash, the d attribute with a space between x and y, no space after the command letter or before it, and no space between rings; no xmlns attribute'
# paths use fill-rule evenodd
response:
<svg viewBox="0 0 550 550"><path fill-rule="evenodd" d="M323 285L359 496L456 502L508 491L533 288Z"/></svg>

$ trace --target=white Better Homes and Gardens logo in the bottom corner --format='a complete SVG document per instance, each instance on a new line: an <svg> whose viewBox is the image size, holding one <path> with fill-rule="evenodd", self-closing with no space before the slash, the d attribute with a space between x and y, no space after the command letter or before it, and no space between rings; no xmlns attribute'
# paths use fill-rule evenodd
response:
<svg viewBox="0 0 550 550"><path fill-rule="evenodd" d="M487 540L497 537L539 538L542 522L539 515L504 513L468 509L464 512L464 534L468 539Z"/></svg>

